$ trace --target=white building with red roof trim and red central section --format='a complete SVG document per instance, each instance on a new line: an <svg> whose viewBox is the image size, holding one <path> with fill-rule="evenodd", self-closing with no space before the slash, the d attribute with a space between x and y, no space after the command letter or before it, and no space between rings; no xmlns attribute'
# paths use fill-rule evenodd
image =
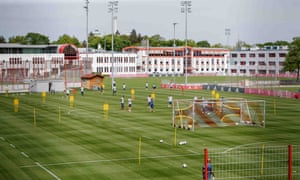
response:
<svg viewBox="0 0 300 180"><path fill-rule="evenodd" d="M149 75L225 75L229 62L224 48L130 46L123 52L136 53L137 72Z"/></svg>

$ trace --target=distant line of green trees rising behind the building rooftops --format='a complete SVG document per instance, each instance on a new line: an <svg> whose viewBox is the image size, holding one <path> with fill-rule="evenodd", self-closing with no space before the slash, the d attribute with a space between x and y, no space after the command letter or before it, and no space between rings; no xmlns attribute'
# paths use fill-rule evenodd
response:
<svg viewBox="0 0 300 180"><path fill-rule="evenodd" d="M88 36L88 46L90 48L98 49L101 46L104 50L111 50L111 34L104 36L98 36L93 32L89 33ZM122 48L127 46L146 46L145 41L149 42L149 46L152 47L172 47L174 45L174 39L165 39L159 34L152 36L141 35L133 29L129 35L120 34L118 31L114 34L114 50L121 51ZM144 43L143 43L144 42ZM29 45L42 45L42 44L74 44L77 47L86 47L86 40L79 41L75 36L70 36L63 34L58 37L56 41L50 41L49 37L40 33L29 32L26 35L18 35L9 37L8 40L4 36L0 35L0 43L19 43L19 44L29 44ZM180 39L175 39L176 46L184 46L185 41ZM211 47L211 48L228 48L231 50L240 49L241 47L252 47L252 45L247 44L244 41L238 41L234 47L223 45L221 43L210 44L207 40L194 41L192 39L187 40L187 45L191 47ZM256 44L258 47L264 46L289 46L290 43L287 41L276 41L276 42L266 42L262 44Z"/></svg>

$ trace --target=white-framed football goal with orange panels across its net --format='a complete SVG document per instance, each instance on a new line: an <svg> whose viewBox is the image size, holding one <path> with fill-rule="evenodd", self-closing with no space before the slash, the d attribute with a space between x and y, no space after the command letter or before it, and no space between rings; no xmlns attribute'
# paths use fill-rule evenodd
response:
<svg viewBox="0 0 300 180"><path fill-rule="evenodd" d="M197 127L265 127L265 101L241 98L175 100L173 126L193 130Z"/></svg>

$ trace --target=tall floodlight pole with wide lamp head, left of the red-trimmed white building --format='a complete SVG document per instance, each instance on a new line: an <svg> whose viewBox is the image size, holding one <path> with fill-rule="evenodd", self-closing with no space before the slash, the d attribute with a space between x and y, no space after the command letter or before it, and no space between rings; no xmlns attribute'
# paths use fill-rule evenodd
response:
<svg viewBox="0 0 300 180"><path fill-rule="evenodd" d="M114 83L114 13L118 12L118 1L108 2L108 12L111 13L111 84Z"/></svg>

